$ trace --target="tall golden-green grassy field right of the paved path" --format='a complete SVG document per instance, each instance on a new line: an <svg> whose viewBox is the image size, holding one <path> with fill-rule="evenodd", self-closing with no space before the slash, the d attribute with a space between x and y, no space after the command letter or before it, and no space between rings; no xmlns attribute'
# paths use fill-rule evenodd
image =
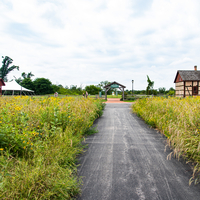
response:
<svg viewBox="0 0 200 200"><path fill-rule="evenodd" d="M159 129L174 149L175 157L183 157L194 166L190 184L200 180L200 97L145 98L137 100L133 112L146 123ZM171 155L169 155L171 156Z"/></svg>

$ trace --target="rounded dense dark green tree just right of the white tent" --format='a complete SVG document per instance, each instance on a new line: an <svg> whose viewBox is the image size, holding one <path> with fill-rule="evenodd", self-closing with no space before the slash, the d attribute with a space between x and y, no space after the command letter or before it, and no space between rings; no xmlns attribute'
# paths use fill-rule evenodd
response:
<svg viewBox="0 0 200 200"><path fill-rule="evenodd" d="M52 83L49 79L46 78L36 78L34 81L34 91L36 94L52 94L53 88Z"/></svg>

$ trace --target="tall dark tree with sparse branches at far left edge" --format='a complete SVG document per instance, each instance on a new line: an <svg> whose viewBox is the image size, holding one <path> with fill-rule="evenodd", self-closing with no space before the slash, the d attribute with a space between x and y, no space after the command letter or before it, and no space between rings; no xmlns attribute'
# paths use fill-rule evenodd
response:
<svg viewBox="0 0 200 200"><path fill-rule="evenodd" d="M8 81L7 75L13 71L14 69L19 70L19 66L12 65L9 67L9 65L12 64L13 60L6 56L5 58L2 56L3 61L2 61L2 67L0 68L0 78L4 80L4 82Z"/></svg>

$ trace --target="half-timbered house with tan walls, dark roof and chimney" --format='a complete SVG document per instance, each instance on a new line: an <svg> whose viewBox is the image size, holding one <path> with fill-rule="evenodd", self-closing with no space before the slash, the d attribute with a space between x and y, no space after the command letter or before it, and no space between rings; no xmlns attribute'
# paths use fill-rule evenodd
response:
<svg viewBox="0 0 200 200"><path fill-rule="evenodd" d="M194 70L178 70L174 80L175 96L200 96L200 71L197 66Z"/></svg>

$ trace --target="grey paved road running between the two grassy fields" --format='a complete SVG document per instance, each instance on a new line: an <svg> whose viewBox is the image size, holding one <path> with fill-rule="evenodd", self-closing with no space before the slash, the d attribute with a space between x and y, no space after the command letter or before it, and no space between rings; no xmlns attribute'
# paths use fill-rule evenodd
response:
<svg viewBox="0 0 200 200"><path fill-rule="evenodd" d="M200 187L189 186L191 169L167 160L165 138L131 113L130 104L107 104L86 139L79 158L83 177L79 200L200 200Z"/></svg>

